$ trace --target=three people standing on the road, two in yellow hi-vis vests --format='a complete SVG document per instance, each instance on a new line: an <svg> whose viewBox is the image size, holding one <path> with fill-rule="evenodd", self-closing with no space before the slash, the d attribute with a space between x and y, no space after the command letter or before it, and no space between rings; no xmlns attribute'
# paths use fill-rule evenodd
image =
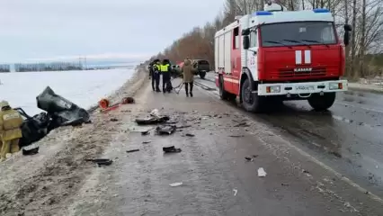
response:
<svg viewBox="0 0 383 216"><path fill-rule="evenodd" d="M183 73L183 85L185 85L186 96L193 96L192 88L194 82L193 70L195 68L191 65L191 59L186 58L183 61L183 67L181 71ZM153 91L161 92L159 88L160 76L162 75L162 88L163 92L171 93L173 90L173 85L171 82L171 65L169 61L163 60L162 62L159 59L154 61L153 66L149 67L150 76L152 77L152 88Z"/></svg>

